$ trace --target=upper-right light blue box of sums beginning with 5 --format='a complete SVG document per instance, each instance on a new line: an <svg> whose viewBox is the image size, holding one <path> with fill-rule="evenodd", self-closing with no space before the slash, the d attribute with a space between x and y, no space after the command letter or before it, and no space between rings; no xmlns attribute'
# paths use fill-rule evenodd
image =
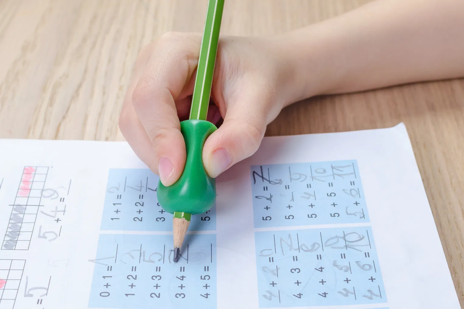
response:
<svg viewBox="0 0 464 309"><path fill-rule="evenodd" d="M356 161L251 166L255 227L369 222Z"/></svg>

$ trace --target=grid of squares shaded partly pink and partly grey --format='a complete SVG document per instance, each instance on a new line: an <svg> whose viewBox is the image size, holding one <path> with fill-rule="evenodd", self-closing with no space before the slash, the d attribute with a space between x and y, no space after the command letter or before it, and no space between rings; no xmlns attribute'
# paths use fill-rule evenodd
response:
<svg viewBox="0 0 464 309"><path fill-rule="evenodd" d="M29 249L47 174L48 167L46 166L24 167L12 205L2 250Z"/></svg>

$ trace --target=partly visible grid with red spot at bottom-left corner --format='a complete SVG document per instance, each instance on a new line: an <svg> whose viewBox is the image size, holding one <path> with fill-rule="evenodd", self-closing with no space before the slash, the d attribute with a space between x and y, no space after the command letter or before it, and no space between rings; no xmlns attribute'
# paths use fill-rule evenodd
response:
<svg viewBox="0 0 464 309"><path fill-rule="evenodd" d="M1 309L13 309L25 264L25 259L0 259Z"/></svg>

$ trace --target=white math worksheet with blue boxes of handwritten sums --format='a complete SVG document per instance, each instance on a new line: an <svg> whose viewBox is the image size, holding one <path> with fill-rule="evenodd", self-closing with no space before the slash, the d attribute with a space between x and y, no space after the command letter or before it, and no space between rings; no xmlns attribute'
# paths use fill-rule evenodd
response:
<svg viewBox="0 0 464 309"><path fill-rule="evenodd" d="M0 309L458 309L403 124L266 137L174 263L124 142L0 140Z"/></svg>

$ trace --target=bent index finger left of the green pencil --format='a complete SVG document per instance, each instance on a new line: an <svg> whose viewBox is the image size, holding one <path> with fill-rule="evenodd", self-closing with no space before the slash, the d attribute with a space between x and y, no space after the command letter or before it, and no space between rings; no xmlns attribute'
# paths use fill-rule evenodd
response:
<svg viewBox="0 0 464 309"><path fill-rule="evenodd" d="M179 179L185 165L185 142L175 100L191 79L198 62L200 40L170 34L158 42L132 93L132 105L151 143L154 162L164 185Z"/></svg>

